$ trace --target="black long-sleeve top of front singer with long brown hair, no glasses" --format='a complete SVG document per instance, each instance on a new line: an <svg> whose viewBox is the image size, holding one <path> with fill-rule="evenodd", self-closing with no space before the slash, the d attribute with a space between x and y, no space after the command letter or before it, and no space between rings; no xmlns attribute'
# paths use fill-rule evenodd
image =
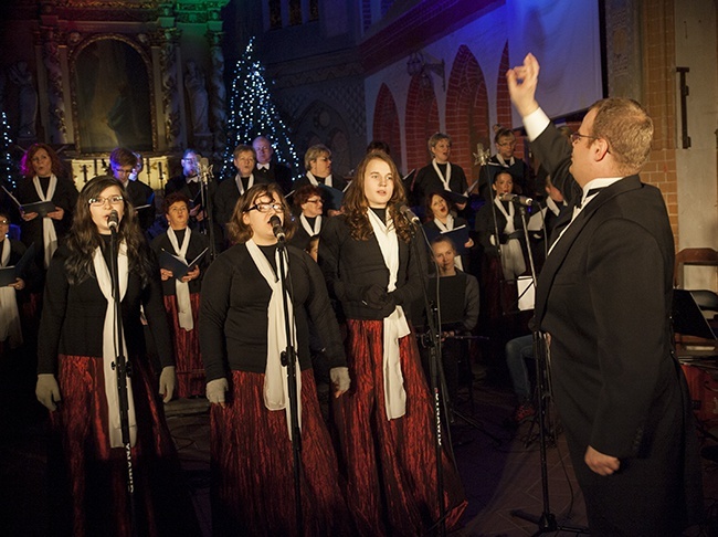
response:
<svg viewBox="0 0 718 537"><path fill-rule="evenodd" d="M319 266L330 295L341 302L347 318L381 320L394 310L394 304L406 309L421 297L426 274L425 248L399 239L397 289L391 293L393 301L381 309L362 302L371 285L384 289L389 285L389 268L373 233L367 241L357 241L351 238L344 214L328 219L319 240Z"/></svg>

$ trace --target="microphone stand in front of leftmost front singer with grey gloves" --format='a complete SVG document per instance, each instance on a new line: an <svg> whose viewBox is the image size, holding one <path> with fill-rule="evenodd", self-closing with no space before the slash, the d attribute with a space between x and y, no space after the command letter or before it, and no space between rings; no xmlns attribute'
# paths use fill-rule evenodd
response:
<svg viewBox="0 0 718 537"><path fill-rule="evenodd" d="M115 307L115 362L113 367L117 371L117 394L119 402L119 427L122 432L123 445L127 461L127 497L129 503L129 527L131 535L137 535L135 527L135 474L133 470L133 452L129 436L129 399L127 393L127 381L133 373L131 364L125 357L125 346L123 345L123 308L119 296L119 270L117 267L117 227L110 227L109 241L109 271L113 281L113 298Z"/></svg>

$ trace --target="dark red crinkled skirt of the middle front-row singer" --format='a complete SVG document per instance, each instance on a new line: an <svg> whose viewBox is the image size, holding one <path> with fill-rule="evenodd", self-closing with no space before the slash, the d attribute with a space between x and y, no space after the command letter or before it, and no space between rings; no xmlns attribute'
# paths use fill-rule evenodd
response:
<svg viewBox="0 0 718 537"><path fill-rule="evenodd" d="M264 375L232 371L226 408L212 404L212 535L295 536L294 460L284 410L264 406ZM302 372L304 534L353 535L314 372Z"/></svg>

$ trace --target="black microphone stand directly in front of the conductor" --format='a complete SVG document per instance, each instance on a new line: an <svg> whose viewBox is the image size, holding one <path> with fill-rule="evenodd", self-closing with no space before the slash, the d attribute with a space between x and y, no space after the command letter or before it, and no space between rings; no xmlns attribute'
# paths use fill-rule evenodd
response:
<svg viewBox="0 0 718 537"><path fill-rule="evenodd" d="M521 222L524 224L524 236L526 240L529 265L531 268L531 283L534 289L536 289L537 277L536 277L536 267L534 265L534 255L531 254L531 249L529 246L529 234L528 225L526 222L526 208L518 202L514 202L519 206L521 212ZM539 331L538 329L534 330L534 356L536 357L536 389L538 391L538 424L539 424L539 452L540 452L540 464L541 464L541 496L542 496L542 512L541 515L531 515L521 509L511 510L511 516L521 518L524 520L531 522L538 526L538 530L534 534L535 536L542 534L550 534L556 531L571 531L573 534L585 534L589 531L587 528L574 527L574 526L562 526L556 522L556 515L551 513L549 505L549 483L548 483L548 460L546 456L546 444L547 444L547 424L546 419L548 414L548 404L549 399L551 398L551 382L550 382L550 371L549 371L549 349L546 344L546 334Z"/></svg>

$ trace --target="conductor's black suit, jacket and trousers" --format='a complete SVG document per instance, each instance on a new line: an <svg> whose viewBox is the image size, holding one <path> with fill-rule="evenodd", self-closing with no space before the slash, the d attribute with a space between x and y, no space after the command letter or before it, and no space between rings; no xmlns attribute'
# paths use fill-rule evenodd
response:
<svg viewBox="0 0 718 537"><path fill-rule="evenodd" d="M576 193L560 138L549 126L531 147L557 186ZM696 502L690 495L699 497L690 402L672 354L673 266L663 197L631 176L584 207L538 281L536 322L551 335L553 392L589 512L640 529L626 535L675 535ZM621 471L591 472L588 445L619 457ZM651 523L636 513L651 513ZM605 530L595 520L592 530Z"/></svg>

